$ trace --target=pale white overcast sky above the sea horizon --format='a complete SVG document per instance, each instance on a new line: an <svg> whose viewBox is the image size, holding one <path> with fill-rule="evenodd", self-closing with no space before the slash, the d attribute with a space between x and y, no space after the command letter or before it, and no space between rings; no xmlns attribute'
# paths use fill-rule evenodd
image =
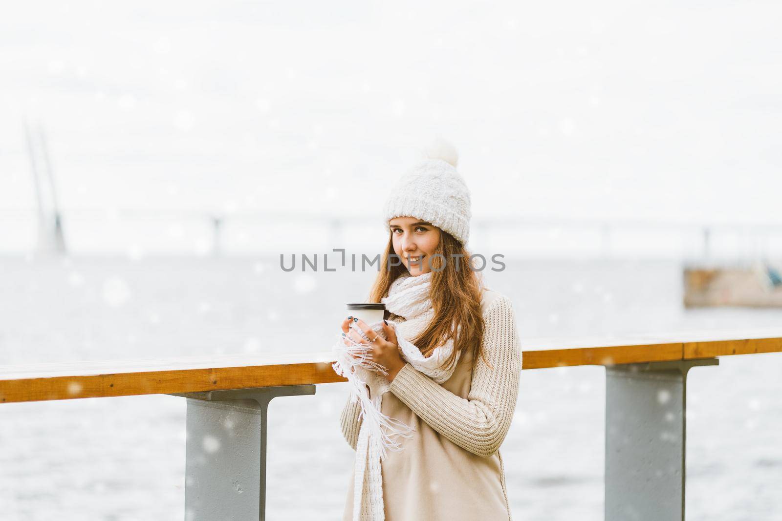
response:
<svg viewBox="0 0 782 521"><path fill-rule="evenodd" d="M66 212L371 214L440 134L476 216L779 222L780 15L778 2L16 2L0 17L0 210L34 208L28 116L45 124Z"/></svg>

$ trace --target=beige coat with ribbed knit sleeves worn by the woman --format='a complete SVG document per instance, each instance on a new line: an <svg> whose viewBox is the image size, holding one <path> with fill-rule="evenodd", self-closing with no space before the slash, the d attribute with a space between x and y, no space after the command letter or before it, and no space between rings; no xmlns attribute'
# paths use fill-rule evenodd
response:
<svg viewBox="0 0 782 521"><path fill-rule="evenodd" d="M414 426L402 450L381 462L387 521L511 519L500 444L511 426L522 351L511 301L484 290L482 347L493 369L465 355L442 385L404 366L383 395L382 412ZM398 319L396 316L393 317ZM355 449L358 403L346 402L343 434ZM353 476L344 517L353 519Z"/></svg>

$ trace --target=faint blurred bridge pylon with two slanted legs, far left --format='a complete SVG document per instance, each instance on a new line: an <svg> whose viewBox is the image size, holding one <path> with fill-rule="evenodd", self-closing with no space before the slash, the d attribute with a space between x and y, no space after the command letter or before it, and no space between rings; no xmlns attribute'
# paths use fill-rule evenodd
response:
<svg viewBox="0 0 782 521"><path fill-rule="evenodd" d="M36 249L41 253L64 254L66 246L63 219L59 209L52 160L49 156L45 133L40 123L33 130L27 120L24 122L24 133L27 137L27 155L30 158L35 199L38 202L38 246Z"/></svg>

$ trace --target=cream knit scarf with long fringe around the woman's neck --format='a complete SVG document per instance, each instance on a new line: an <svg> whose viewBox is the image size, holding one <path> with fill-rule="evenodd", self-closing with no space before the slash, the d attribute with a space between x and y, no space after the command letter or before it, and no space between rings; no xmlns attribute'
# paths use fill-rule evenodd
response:
<svg viewBox="0 0 782 521"><path fill-rule="evenodd" d="M449 339L445 344L438 346L428 358L424 358L420 349L407 341L408 338L414 338L425 330L434 316L432 301L429 298L431 286L431 271L418 277L404 273L393 281L388 296L382 298L381 302L390 312L404 317L404 321L398 323L393 320L388 321L389 326L396 332L396 340L404 361L426 376L430 376L438 384L442 384L454 373L458 362L457 356L456 362L450 368L439 365L453 352L454 341ZM368 326L383 338L386 337L382 330L382 323L368 324ZM352 329L368 341L363 331L357 327ZM398 438L412 437L411 432L414 429L381 412L383 394L389 391L390 387L389 381L378 374L378 371L386 373L383 370L385 368L373 362L371 353L368 354L361 345L353 344L350 339L352 345L343 344L344 338L339 334L338 341L332 348L337 357L332 367L337 374L346 377L350 382L352 401L361 401L360 417L364 419L356 444L353 520L382 521L386 516L383 509L380 461L386 459L386 449L401 450ZM351 355L358 355L361 358L355 359ZM367 394L366 386L369 386L371 398Z"/></svg>

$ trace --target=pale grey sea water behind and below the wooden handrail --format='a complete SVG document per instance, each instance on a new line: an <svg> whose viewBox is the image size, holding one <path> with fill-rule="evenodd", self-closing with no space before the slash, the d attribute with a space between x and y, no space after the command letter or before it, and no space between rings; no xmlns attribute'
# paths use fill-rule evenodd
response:
<svg viewBox="0 0 782 521"><path fill-rule="evenodd" d="M684 309L673 260L506 259L486 285L533 337L774 327L777 309ZM0 365L326 351L375 273L278 257L0 259ZM500 451L515 519L603 519L604 369L526 370ZM687 519L779 519L782 354L692 369ZM340 519L346 384L269 406L267 519ZM662 427L661 427L662 432ZM0 405L0 519L182 519L185 399ZM399 498L398 501L404 501ZM776 518L775 518L776 516Z"/></svg>

